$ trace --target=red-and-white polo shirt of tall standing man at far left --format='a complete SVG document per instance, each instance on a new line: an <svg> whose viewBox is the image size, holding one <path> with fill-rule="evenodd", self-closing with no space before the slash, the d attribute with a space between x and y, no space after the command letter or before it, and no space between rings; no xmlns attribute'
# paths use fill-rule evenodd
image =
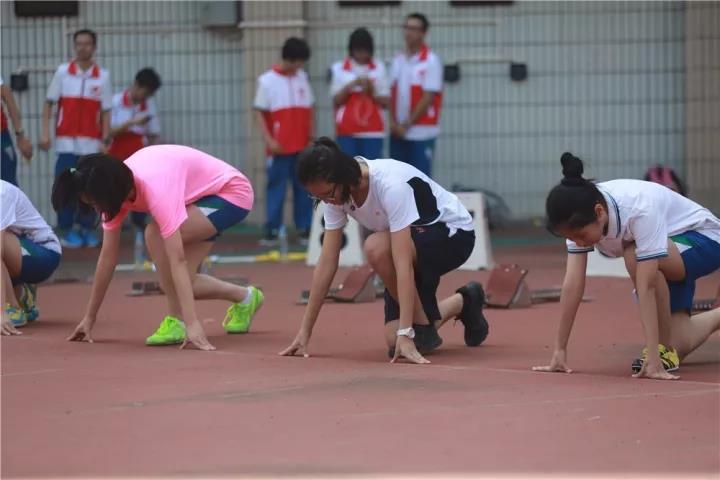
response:
<svg viewBox="0 0 720 480"><path fill-rule="evenodd" d="M58 104L55 151L87 155L100 151L100 114L112 107L110 74L93 64L86 71L71 61L55 71L47 100Z"/></svg>

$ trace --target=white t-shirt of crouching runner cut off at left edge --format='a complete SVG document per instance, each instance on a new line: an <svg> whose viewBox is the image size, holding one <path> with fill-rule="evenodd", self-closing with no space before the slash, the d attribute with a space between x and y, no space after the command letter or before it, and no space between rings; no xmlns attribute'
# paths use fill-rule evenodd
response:
<svg viewBox="0 0 720 480"><path fill-rule="evenodd" d="M40 212L27 198L27 195L15 185L0 180L0 230L9 230L15 235L27 237L34 243L62 253L60 240Z"/></svg>

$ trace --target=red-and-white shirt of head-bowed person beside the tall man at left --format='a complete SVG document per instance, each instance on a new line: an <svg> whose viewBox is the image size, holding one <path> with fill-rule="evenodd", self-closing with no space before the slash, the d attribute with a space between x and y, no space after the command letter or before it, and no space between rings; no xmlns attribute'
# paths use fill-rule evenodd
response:
<svg viewBox="0 0 720 480"><path fill-rule="evenodd" d="M150 120L142 125L131 125L125 132L113 138L110 154L125 160L133 153L147 145L147 137L160 134L160 121L157 118L157 107L152 98L134 104L130 99L130 91L116 93L112 99L110 127L119 127L123 123L138 116L148 116Z"/></svg>

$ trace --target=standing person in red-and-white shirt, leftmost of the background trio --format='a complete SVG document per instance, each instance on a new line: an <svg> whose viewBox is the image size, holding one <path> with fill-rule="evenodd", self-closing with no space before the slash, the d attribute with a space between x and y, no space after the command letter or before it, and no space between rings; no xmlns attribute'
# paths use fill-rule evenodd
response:
<svg viewBox="0 0 720 480"><path fill-rule="evenodd" d="M313 202L300 184L295 164L297 155L314 137L313 97L307 73L310 47L291 37L282 48L279 64L258 77L255 119L268 153L265 237L262 245L275 245L283 223L287 182L293 186L293 213L301 243L307 243L312 223Z"/></svg>

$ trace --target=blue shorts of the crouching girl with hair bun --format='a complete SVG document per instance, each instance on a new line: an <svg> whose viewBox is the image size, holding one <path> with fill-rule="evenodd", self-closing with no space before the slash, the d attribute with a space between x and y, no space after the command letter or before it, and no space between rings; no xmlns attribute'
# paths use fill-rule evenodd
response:
<svg viewBox="0 0 720 480"><path fill-rule="evenodd" d="M685 264L685 279L668 281L670 311L691 311L695 296L695 281L720 269L720 244L698 232L685 232L670 237L680 251Z"/></svg>

